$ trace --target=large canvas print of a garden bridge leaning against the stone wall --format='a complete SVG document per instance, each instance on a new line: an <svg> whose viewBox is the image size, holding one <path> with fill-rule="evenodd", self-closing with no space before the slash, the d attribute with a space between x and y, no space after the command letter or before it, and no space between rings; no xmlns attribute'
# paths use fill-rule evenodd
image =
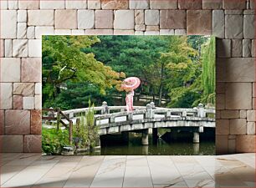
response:
<svg viewBox="0 0 256 188"><path fill-rule="evenodd" d="M215 155L215 38L44 36L44 155Z"/></svg>

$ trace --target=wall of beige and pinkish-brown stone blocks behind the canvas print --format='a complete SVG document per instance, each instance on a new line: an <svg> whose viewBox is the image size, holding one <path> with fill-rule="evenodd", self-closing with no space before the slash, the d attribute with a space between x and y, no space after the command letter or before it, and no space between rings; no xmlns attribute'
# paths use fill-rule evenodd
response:
<svg viewBox="0 0 256 188"><path fill-rule="evenodd" d="M3 152L39 152L43 34L214 35L218 154L255 152L254 0L2 0Z"/></svg>

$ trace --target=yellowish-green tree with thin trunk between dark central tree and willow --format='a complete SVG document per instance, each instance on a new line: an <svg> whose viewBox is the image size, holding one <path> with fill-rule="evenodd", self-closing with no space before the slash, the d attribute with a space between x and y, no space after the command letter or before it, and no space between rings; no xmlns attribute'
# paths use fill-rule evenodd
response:
<svg viewBox="0 0 256 188"><path fill-rule="evenodd" d="M168 52L161 53L161 57L148 69L148 74L154 75L151 79L158 90L159 106L163 93L169 94L175 100L172 89L183 88L197 76L196 64L191 59L197 55L197 50L187 44L187 38L169 37L168 42Z"/></svg>

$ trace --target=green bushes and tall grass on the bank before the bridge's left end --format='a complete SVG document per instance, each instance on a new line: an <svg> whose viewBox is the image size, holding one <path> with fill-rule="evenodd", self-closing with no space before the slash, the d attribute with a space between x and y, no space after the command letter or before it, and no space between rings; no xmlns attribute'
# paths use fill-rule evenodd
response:
<svg viewBox="0 0 256 188"><path fill-rule="evenodd" d="M73 126L73 146L89 150L100 145L100 135L94 123L95 110L92 105L86 113L79 116ZM57 130L56 128L47 129L43 126L42 149L45 154L60 155L63 147L69 145L69 130Z"/></svg>

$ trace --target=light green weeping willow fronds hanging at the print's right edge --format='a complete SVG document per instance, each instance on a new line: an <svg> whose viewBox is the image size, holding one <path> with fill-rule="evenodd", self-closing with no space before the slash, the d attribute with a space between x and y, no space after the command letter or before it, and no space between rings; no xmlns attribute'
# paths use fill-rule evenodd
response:
<svg viewBox="0 0 256 188"><path fill-rule="evenodd" d="M202 45L202 102L215 104L216 87L216 40L211 38Z"/></svg>

